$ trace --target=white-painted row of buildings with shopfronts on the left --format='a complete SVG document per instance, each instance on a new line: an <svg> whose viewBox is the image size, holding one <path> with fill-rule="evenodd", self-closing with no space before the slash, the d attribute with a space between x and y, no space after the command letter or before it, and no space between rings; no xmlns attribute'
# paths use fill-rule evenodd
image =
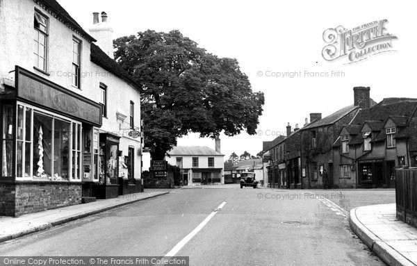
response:
<svg viewBox="0 0 417 266"><path fill-rule="evenodd" d="M112 40L106 13L88 33L55 0L0 1L0 215L142 191L140 90Z"/></svg>

